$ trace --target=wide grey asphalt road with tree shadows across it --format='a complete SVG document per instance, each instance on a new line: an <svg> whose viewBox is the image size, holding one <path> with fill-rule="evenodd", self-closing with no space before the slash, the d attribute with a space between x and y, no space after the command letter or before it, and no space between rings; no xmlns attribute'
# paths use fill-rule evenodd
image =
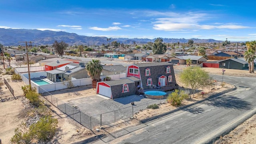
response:
<svg viewBox="0 0 256 144"><path fill-rule="evenodd" d="M222 76L212 75L216 79ZM148 126L109 143L200 144L237 126L256 111L256 78L224 76L237 90L146 123ZM101 143L98 141L96 143Z"/></svg>

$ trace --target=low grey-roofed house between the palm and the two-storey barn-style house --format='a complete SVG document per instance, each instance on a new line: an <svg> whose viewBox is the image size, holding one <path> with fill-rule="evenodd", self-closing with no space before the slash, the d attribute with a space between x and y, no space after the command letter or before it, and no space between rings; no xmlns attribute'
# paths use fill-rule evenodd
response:
<svg viewBox="0 0 256 144"><path fill-rule="evenodd" d="M126 72L126 67L123 65L113 65L113 66L102 66L101 76L110 76L114 74L122 74Z"/></svg>

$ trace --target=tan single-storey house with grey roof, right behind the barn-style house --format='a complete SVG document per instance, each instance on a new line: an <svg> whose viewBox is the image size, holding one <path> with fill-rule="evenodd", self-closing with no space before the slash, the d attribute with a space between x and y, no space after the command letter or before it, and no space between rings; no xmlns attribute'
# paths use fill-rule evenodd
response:
<svg viewBox="0 0 256 144"><path fill-rule="evenodd" d="M206 62L207 58L204 56L174 56L173 58L170 58L170 62L174 64L186 64L186 60L192 60L192 64L201 64L202 62Z"/></svg>

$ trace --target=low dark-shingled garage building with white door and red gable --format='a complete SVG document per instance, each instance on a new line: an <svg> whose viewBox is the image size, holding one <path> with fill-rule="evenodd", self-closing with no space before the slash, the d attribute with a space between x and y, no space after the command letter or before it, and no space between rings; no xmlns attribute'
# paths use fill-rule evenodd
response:
<svg viewBox="0 0 256 144"><path fill-rule="evenodd" d="M131 96L136 93L140 79L128 77L120 80L97 82L96 93L111 99Z"/></svg>

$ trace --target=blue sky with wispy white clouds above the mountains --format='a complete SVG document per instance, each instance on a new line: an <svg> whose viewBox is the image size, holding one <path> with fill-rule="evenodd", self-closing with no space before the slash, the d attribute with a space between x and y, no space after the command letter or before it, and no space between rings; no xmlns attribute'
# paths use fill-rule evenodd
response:
<svg viewBox="0 0 256 144"><path fill-rule="evenodd" d="M0 28L54 30L108 38L255 40L256 2L242 2L0 0Z"/></svg>

